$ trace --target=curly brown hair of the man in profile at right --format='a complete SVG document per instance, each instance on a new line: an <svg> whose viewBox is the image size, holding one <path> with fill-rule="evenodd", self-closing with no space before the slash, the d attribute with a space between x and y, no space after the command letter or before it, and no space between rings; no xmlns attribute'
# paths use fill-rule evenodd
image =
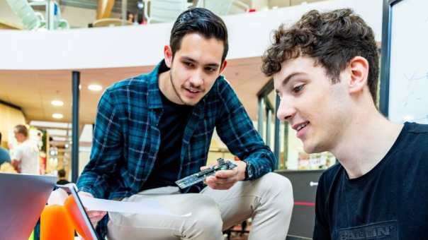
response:
<svg viewBox="0 0 428 240"><path fill-rule="evenodd" d="M309 11L286 29L281 25L274 32L274 42L263 56L261 70L266 76L281 71L283 61L310 56L315 64L326 69L332 83L355 56L368 61L367 85L374 102L378 88L379 55L373 30L351 9L327 13Z"/></svg>

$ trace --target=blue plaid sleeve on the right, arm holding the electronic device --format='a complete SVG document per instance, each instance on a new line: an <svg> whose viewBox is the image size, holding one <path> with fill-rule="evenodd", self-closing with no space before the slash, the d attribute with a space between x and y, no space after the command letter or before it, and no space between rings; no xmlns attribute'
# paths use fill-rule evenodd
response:
<svg viewBox="0 0 428 240"><path fill-rule="evenodd" d="M218 85L218 91L223 104L215 124L218 135L233 155L252 164L254 176L248 180L273 171L274 153L264 144L235 91L226 80Z"/></svg>

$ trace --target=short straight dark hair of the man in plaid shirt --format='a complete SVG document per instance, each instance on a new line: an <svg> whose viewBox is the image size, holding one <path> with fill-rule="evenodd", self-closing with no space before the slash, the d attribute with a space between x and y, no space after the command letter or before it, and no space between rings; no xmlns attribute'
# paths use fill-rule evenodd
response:
<svg viewBox="0 0 428 240"><path fill-rule="evenodd" d="M222 63L225 61L229 43L226 25L219 16L206 8L190 8L181 13L171 29L169 38L173 57L181 47L181 40L189 33L198 33L207 39L214 37L223 41Z"/></svg>

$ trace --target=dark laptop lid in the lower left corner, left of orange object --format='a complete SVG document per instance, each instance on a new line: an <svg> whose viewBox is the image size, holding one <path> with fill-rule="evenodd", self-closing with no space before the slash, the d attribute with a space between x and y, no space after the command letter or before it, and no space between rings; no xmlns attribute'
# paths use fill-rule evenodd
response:
<svg viewBox="0 0 428 240"><path fill-rule="evenodd" d="M28 240L56 181L56 176L0 173L0 239Z"/></svg>

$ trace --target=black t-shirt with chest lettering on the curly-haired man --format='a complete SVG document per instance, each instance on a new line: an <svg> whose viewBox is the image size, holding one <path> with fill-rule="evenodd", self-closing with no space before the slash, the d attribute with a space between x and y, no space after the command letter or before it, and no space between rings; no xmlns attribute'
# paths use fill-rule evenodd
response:
<svg viewBox="0 0 428 240"><path fill-rule="evenodd" d="M383 160L349 179L320 177L313 239L428 239L428 125L405 123Z"/></svg>

